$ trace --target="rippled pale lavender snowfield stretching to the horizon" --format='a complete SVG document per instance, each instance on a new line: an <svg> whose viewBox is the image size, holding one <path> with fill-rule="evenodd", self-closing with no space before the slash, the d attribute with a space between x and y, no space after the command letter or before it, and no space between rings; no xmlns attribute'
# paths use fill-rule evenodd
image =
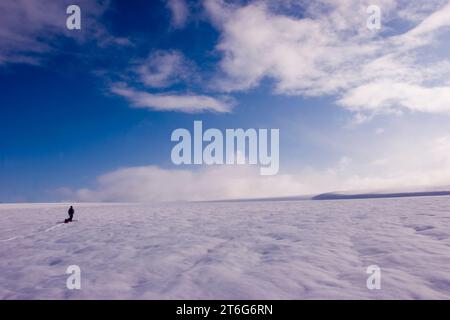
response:
<svg viewBox="0 0 450 320"><path fill-rule="evenodd" d="M1 299L450 298L450 197L75 210L0 205Z"/></svg>

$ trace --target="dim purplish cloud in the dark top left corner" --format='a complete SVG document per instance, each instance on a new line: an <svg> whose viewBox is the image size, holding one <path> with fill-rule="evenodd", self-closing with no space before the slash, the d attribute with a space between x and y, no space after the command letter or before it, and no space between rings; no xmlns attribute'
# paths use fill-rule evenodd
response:
<svg viewBox="0 0 450 320"><path fill-rule="evenodd" d="M100 23L108 1L77 1L81 7L82 30L66 28L66 9L72 1L6 0L0 2L0 65L42 64L58 52L61 38L99 47L129 45L130 41L109 34Z"/></svg>

